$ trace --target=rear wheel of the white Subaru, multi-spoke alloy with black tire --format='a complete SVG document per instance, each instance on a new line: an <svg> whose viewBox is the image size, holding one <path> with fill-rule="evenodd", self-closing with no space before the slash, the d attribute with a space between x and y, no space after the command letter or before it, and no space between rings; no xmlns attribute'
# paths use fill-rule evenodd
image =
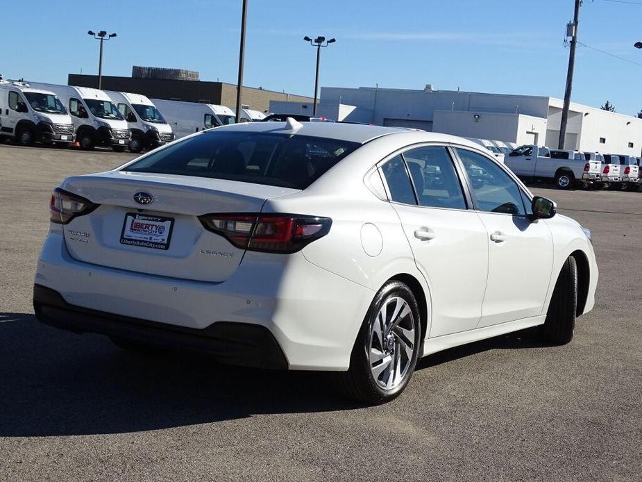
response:
<svg viewBox="0 0 642 482"><path fill-rule="evenodd" d="M420 345L416 299L407 285L389 281L372 301L350 356L350 368L338 374L339 385L352 399L384 404L406 388Z"/></svg>

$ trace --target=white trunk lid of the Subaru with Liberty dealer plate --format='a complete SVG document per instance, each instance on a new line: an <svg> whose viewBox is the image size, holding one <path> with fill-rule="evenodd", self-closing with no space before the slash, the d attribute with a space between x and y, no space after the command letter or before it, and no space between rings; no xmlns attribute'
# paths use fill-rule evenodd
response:
<svg viewBox="0 0 642 482"><path fill-rule="evenodd" d="M205 230L207 213L260 213L289 188L195 176L107 172L67 178L62 189L100 206L64 226L77 260L131 272L221 282L244 249ZM140 203L135 201L149 203Z"/></svg>

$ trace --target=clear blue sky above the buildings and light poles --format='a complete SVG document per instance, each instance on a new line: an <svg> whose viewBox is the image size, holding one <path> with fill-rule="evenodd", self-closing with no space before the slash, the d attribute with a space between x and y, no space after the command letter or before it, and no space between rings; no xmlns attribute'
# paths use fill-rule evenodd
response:
<svg viewBox="0 0 642 482"><path fill-rule="evenodd" d="M642 109L642 0L584 0L573 101L618 112ZM3 1L0 72L67 83L132 65L181 67L202 80L236 83L241 0ZM61 8L64 3L65 8ZM323 49L321 85L473 90L564 97L566 22L573 0L249 0L244 84L312 95L315 52L304 35L335 37ZM136 8L140 7L140 8ZM639 63L641 65L635 65Z"/></svg>

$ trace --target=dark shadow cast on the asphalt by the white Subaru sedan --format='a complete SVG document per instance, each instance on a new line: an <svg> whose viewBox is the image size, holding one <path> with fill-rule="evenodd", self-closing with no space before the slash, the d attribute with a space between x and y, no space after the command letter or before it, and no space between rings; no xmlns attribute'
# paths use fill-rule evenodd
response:
<svg viewBox="0 0 642 482"><path fill-rule="evenodd" d="M539 346L529 331L423 358L418 369L488 349ZM219 365L185 354L140 356L98 335L0 313L0 437L122 433L362 405L332 374Z"/></svg>

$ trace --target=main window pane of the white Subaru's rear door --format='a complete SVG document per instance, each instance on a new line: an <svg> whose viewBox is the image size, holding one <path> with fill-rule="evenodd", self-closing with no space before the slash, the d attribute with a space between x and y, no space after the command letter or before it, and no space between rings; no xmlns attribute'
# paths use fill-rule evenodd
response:
<svg viewBox="0 0 642 482"><path fill-rule="evenodd" d="M444 147L418 147L403 153L421 206L466 209L453 161Z"/></svg>

